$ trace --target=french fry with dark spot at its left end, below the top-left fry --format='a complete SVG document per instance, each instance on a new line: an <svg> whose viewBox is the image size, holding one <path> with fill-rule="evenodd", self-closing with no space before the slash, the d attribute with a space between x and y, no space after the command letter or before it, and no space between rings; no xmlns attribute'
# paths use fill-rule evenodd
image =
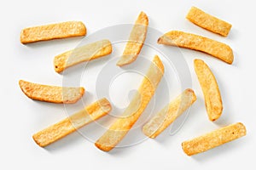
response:
<svg viewBox="0 0 256 170"><path fill-rule="evenodd" d="M86 44L82 47L75 48L63 54L55 56L54 65L55 71L61 72L66 68L77 65L84 61L98 59L112 53L112 45L108 40L101 40Z"/></svg>

